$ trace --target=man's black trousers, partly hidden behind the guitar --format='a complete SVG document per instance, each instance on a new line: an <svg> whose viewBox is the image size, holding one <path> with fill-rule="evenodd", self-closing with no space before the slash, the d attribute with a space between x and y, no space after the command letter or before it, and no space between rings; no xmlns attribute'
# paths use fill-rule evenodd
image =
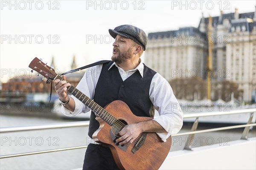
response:
<svg viewBox="0 0 256 170"><path fill-rule="evenodd" d="M119 170L119 168L108 146L89 144L84 156L83 170Z"/></svg>

